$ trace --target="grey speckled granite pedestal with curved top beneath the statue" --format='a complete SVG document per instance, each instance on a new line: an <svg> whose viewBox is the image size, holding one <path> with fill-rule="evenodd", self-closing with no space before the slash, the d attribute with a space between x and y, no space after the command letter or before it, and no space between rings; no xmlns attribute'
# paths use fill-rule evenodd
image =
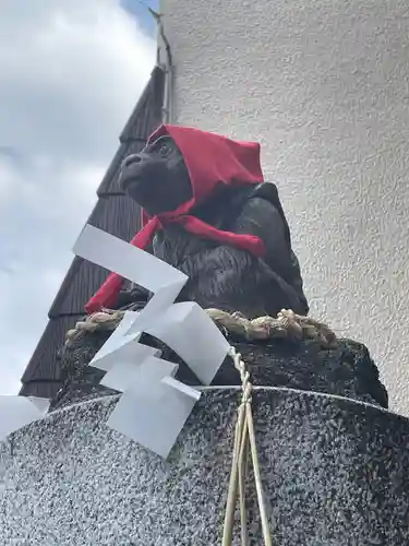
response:
<svg viewBox="0 0 409 546"><path fill-rule="evenodd" d="M105 425L116 396L21 429L0 444L1 545L219 545L238 396L206 391L167 462ZM275 546L408 544L406 418L265 388L254 412ZM261 545L251 483L249 513Z"/></svg>

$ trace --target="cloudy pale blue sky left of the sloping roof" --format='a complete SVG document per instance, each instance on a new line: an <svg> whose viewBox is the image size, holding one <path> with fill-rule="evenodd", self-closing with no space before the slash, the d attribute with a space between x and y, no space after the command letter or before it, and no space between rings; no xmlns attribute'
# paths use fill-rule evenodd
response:
<svg viewBox="0 0 409 546"><path fill-rule="evenodd" d="M0 394L19 392L155 56L139 0L0 0Z"/></svg>

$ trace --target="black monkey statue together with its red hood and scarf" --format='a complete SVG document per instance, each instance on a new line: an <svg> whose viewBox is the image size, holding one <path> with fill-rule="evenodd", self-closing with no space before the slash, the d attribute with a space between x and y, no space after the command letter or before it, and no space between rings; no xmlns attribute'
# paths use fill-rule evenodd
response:
<svg viewBox="0 0 409 546"><path fill-rule="evenodd" d="M122 189L151 218L137 246L189 276L180 300L249 319L308 313L277 188L261 182L257 145L193 129L161 128L125 158ZM116 307L146 298L122 284Z"/></svg>

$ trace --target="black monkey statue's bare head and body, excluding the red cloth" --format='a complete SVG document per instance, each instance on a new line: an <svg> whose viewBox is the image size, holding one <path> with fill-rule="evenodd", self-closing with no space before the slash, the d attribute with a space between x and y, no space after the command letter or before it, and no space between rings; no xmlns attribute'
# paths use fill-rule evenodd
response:
<svg viewBox="0 0 409 546"><path fill-rule="evenodd" d="M151 214L177 209L192 197L185 162L170 136L160 136L142 153L128 157L121 183ZM172 197L167 200L169 192ZM249 319L275 316L282 308L306 314L300 268L273 183L220 185L191 214L217 229L258 237L266 251L260 258L189 233L180 224L165 225L154 236L149 251L189 276L181 299L197 301L203 308L241 312ZM136 294L132 288L122 292L122 302Z"/></svg>

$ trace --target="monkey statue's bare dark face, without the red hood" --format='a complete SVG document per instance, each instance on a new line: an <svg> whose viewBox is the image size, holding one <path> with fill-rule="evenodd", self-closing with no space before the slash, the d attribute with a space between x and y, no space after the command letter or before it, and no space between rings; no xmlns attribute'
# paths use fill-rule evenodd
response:
<svg viewBox="0 0 409 546"><path fill-rule="evenodd" d="M155 139L121 167L120 187L149 216L170 212L192 198L190 176L181 151L169 135Z"/></svg>

